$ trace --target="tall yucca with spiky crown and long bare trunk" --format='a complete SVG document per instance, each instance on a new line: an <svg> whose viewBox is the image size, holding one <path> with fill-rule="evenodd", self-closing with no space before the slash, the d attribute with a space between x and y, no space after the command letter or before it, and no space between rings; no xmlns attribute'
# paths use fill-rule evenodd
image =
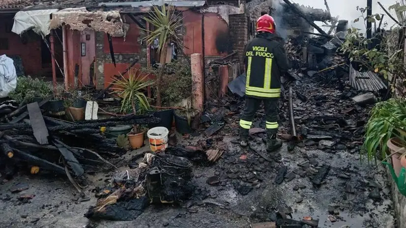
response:
<svg viewBox="0 0 406 228"><path fill-rule="evenodd" d="M162 6L154 5L152 12L143 19L149 23L150 30L146 30L148 34L143 38L148 45L151 45L158 39L158 52L160 55L159 62L161 63L161 72L156 75L156 89L157 97L156 104L161 106L161 80L166 63L166 55L168 52L168 43L174 42L179 48L183 48L181 34L177 32L182 26L182 17L180 13L176 13L175 7L172 5L165 5L162 1Z"/></svg>

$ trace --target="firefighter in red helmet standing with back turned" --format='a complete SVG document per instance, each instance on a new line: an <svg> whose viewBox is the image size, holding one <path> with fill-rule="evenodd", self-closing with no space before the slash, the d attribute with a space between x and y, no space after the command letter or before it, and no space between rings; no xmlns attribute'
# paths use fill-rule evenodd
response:
<svg viewBox="0 0 406 228"><path fill-rule="evenodd" d="M263 102L266 115L266 149L275 151L282 146L277 139L278 102L281 76L288 71L288 60L281 38L275 34L275 21L268 14L257 20L258 34L245 47L245 107L240 119L240 144L247 145L249 129L255 113Z"/></svg>

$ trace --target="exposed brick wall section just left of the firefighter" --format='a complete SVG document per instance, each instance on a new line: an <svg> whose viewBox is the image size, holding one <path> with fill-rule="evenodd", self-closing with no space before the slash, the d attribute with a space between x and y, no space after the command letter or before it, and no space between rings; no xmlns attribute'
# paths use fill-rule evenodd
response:
<svg viewBox="0 0 406 228"><path fill-rule="evenodd" d="M232 33L233 50L237 51L241 62L241 68L244 67L244 49L248 42L248 17L245 14L236 14L229 16L230 30Z"/></svg>

